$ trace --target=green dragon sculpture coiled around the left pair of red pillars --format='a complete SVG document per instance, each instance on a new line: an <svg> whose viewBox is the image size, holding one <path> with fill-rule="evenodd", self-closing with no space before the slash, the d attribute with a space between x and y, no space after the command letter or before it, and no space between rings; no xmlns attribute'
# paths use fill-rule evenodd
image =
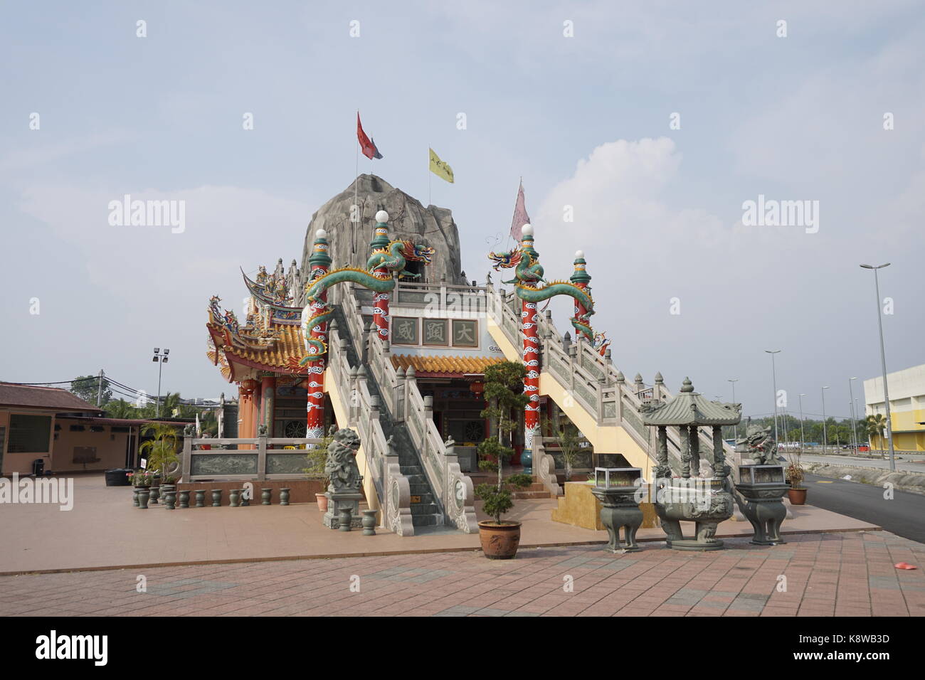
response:
<svg viewBox="0 0 925 680"><path fill-rule="evenodd" d="M327 352L323 340L311 337L313 328L330 321L334 308L322 300L327 289L339 283L351 281L370 291L385 293L395 288L395 274L401 277L420 278L405 270L409 262L431 263L435 250L430 246L412 241L390 241L385 248L373 251L366 261L366 269L346 266L322 274L305 284L305 307L302 309L302 337L305 339L307 356L299 365L307 365ZM384 270L384 271L383 271ZM320 303L320 305L318 304Z"/></svg>

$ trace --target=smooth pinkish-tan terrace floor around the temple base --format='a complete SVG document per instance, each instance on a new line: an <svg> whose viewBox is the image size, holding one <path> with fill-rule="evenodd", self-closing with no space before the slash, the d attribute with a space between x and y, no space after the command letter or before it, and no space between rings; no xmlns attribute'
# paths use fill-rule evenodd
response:
<svg viewBox="0 0 925 680"><path fill-rule="evenodd" d="M553 522L550 511L555 504L550 499L517 501L513 512L505 515L523 522L522 545L606 541L605 531ZM793 518L783 524L784 533L874 527L812 506L792 512ZM331 531L320 518L314 503L173 511L155 505L139 510L131 507L131 488L106 487L99 475L77 476L71 511L37 503L0 506L0 574L479 548L475 534L450 530L409 538L381 530L365 537L359 531ZM720 525L721 538L743 535L751 535L747 522ZM638 538L662 540L665 534L660 528L641 529Z"/></svg>

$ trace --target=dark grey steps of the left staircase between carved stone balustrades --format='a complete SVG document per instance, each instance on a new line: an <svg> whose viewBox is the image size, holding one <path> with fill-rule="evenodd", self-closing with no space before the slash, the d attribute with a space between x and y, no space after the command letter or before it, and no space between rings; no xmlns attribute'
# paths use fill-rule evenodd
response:
<svg viewBox="0 0 925 680"><path fill-rule="evenodd" d="M354 339L351 338L350 326L344 318L343 310L340 309L340 305L335 307L334 318L338 323L341 337L348 339L347 359L350 365L363 365L363 362L361 362L360 357L354 349ZM382 398L382 393L379 390L379 386L376 384L376 378L373 377L372 372L369 371L367 371L366 374L366 389L369 389L370 395L379 398L380 404L388 403ZM392 446L394 451L398 453L401 474L408 477L412 496L412 525L415 530L419 526L443 525L443 513L436 501L437 497L434 494L434 490L427 481L427 477L421 467L421 459L418 452L414 449L413 440L408 433L408 426L404 423L393 422L391 414L388 413L388 409L385 407L379 411L379 425L382 426L382 431L385 433L386 438L393 439Z"/></svg>

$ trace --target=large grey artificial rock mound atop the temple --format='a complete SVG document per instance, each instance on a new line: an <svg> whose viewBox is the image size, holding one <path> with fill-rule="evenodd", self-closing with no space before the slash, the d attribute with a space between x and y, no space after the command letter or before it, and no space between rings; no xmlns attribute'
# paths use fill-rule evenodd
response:
<svg viewBox="0 0 925 680"><path fill-rule="evenodd" d="M351 222L354 183L357 185L359 223ZM317 229L327 230L332 268L365 268L369 257L369 241L373 240L375 215L379 210L388 212L388 233L392 239L409 239L437 251L433 264L423 267L419 279L421 282L439 283L440 278L446 277L449 284L466 283L461 271L459 229L456 228L450 210L436 205L424 207L420 201L401 189L395 189L385 179L365 174L328 200L312 216L302 247L302 278L306 278L311 270L308 258L312 254L314 232ZM302 280L302 284L304 282Z"/></svg>

